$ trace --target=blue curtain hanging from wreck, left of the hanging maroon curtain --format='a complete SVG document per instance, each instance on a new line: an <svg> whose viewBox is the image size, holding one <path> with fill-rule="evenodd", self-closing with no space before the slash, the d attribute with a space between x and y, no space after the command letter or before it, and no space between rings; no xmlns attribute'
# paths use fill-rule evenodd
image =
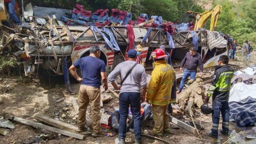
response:
<svg viewBox="0 0 256 144"><path fill-rule="evenodd" d="M91 30L96 32L96 33L99 33L102 35L102 37L104 38L105 42L106 42L106 45L109 46L109 48L111 48L112 50L114 51L120 51L120 48L119 46L117 45L117 42L116 42L116 39L114 38L114 36L111 34L111 32L109 30L103 30L104 32L106 32L107 34L110 34L109 37L110 37L110 41L109 39L105 36L105 34L103 34L100 29L98 29L98 27L95 27L95 26L90 26ZM105 27L102 27L102 29L105 28ZM105 28L106 29L106 28ZM111 36L112 35L112 36ZM112 37L112 38L111 38Z"/></svg>

